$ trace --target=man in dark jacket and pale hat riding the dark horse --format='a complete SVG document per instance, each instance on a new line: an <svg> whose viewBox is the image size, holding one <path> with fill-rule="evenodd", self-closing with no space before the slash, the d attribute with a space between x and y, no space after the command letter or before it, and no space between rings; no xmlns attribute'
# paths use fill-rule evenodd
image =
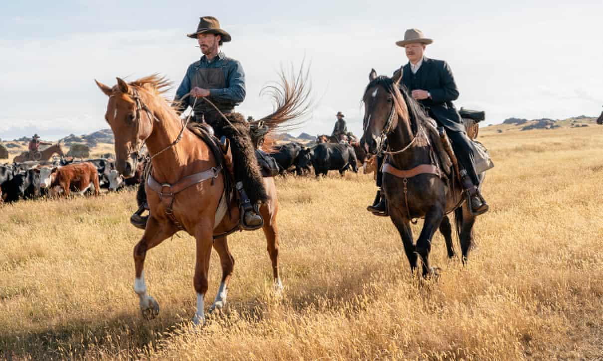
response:
<svg viewBox="0 0 603 361"><path fill-rule="evenodd" d="M423 54L428 44L433 40L426 39L418 29L408 29L404 40L396 45L406 49L409 62L402 67L400 87L406 87L413 99L417 100L429 116L443 126L452 143L452 148L458 158L461 169L463 187L469 192L473 214L482 214L488 210L488 205L479 193L479 177L475 171L473 151L470 140L464 129L461 116L456 111L452 100L458 98L452 71L445 61L426 58ZM397 70L399 72L400 70ZM394 76L399 76L394 73ZM376 95L376 94L375 94ZM377 170L380 170L384 157L377 158ZM377 171L377 196L368 211L376 215L388 215L387 202L383 197L382 172Z"/></svg>

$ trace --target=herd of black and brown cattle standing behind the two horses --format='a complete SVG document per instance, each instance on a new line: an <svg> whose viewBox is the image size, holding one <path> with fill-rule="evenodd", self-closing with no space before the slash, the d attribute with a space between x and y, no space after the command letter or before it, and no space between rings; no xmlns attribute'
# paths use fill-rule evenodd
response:
<svg viewBox="0 0 603 361"><path fill-rule="evenodd" d="M301 143L287 143L276 146L273 156L279 165L279 174L294 173L298 176L311 173L326 175L336 170L343 176L346 170L364 173L374 170L371 159L367 158L358 141L340 143L318 143L306 146ZM71 193L98 195L101 188L116 191L120 188L142 182L147 158L138 162L133 177L124 179L115 169L110 158L73 159L54 158L52 161L28 161L0 165L0 203L11 203L22 199L39 197L66 197Z"/></svg>

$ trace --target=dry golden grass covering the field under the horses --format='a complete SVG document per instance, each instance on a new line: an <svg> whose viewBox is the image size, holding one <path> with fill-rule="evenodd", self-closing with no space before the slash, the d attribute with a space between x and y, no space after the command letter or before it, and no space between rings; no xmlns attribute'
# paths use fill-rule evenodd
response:
<svg viewBox="0 0 603 361"><path fill-rule="evenodd" d="M603 357L603 128L482 131L496 168L470 263L435 236L437 283L409 273L373 217L371 175L279 179L283 298L261 232L236 233L229 305L191 329L194 241L149 251L144 321L134 193L0 209L0 357L14 359L595 359ZM418 228L415 228L418 231ZM418 232L415 232L418 234ZM458 247L456 247L458 249ZM214 255L209 306L221 270Z"/></svg>

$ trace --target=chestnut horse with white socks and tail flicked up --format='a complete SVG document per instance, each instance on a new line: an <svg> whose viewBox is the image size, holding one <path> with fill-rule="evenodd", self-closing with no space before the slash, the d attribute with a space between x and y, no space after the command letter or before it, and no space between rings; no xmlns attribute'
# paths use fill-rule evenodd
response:
<svg viewBox="0 0 603 361"><path fill-rule="evenodd" d="M305 76L307 75L306 73ZM289 120L304 116L308 110L305 76L300 73L297 78L288 81L283 74L282 88L269 88L276 100L277 109L257 122L263 122L270 131L274 131L277 128L282 129L283 125L290 126ZM211 173L211 176L203 178L203 181L172 194L173 203L169 214L197 241L194 273L197 312L193 321L195 324L203 324L204 296L208 288L207 274L212 247L220 258L222 280L209 313L221 309L226 304L235 264L224 234L238 225L239 207L236 200L231 199L230 212L226 212L221 219L216 212L221 205L226 183L226 177L219 169L226 165L219 164L208 144L184 126L183 120L163 97L169 87L165 78L152 75L130 83L119 78L117 81L118 84L114 87L108 87L98 81L96 84L109 97L105 119L115 135L115 167L124 177L133 176L136 170L136 153L143 144L147 145L148 153L152 157L151 176L163 187L166 187L165 184L174 185L192 174ZM182 134L182 138L179 134ZM270 134L271 132L267 134L267 144L271 143ZM176 141L178 139L180 140ZM260 206L260 213L264 217L263 230L272 262L274 287L280 292L283 286L279 276L279 232L276 218L279 204L274 179L264 178L264 185L269 200ZM139 296L143 316L150 319L159 313L159 304L147 293L145 256L148 250L174 235L178 227L166 214L168 208L162 202L160 194L153 191L148 183L146 191L151 211L144 234L134 247L134 292Z"/></svg>

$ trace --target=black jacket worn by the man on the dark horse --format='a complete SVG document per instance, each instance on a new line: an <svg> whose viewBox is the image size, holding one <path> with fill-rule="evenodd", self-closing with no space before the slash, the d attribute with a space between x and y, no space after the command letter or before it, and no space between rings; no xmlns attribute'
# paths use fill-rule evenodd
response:
<svg viewBox="0 0 603 361"><path fill-rule="evenodd" d="M465 131L461 116L452 103L452 100L458 98L458 88L446 61L423 58L423 63L415 74L408 63L403 67L400 84L405 85L409 93L417 89L429 91L431 99L418 100L429 110L429 115L449 131Z"/></svg>

